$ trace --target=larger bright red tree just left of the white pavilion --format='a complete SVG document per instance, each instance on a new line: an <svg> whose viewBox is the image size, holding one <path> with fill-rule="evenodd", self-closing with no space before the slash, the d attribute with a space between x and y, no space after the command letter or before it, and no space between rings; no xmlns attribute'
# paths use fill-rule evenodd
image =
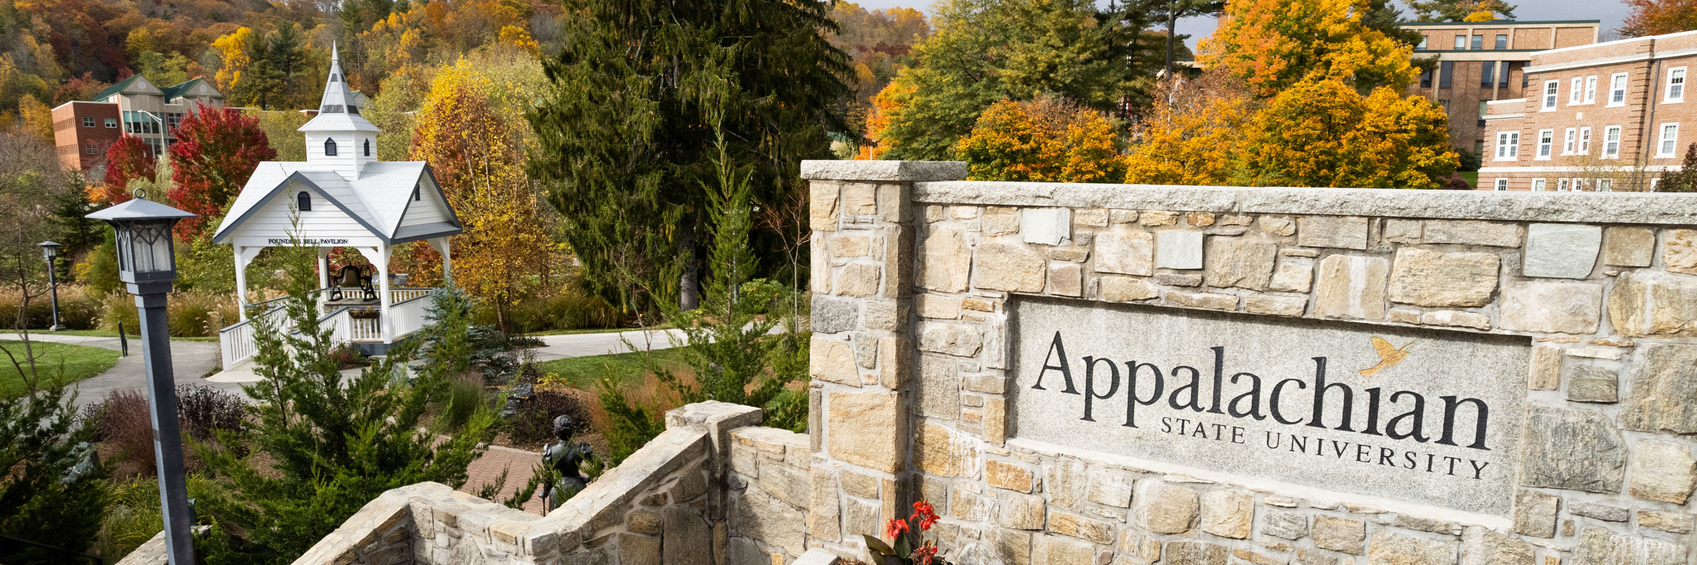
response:
<svg viewBox="0 0 1697 565"><path fill-rule="evenodd" d="M176 183L171 200L183 210L200 214L176 224L182 239L199 236L209 217L224 214L253 168L277 158L260 119L236 109L202 105L185 115L171 134L176 136L168 149L171 182Z"/></svg>

